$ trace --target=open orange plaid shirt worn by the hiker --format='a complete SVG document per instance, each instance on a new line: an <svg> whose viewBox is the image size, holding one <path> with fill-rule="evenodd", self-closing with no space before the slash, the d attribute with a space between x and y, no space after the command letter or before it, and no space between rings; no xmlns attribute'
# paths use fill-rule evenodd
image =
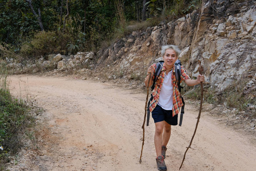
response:
<svg viewBox="0 0 256 171"><path fill-rule="evenodd" d="M155 72L156 72L156 63L152 65L153 66L153 76L152 79L155 79ZM178 91L178 85L177 85L177 80L175 76L175 66L173 66L173 71L172 71L172 86L173 86L173 107L172 107L172 115L177 115L178 112L180 112L180 108L182 107L183 103L181 100L181 95L180 92ZM153 100L151 101L151 104L149 106L149 110L152 112L153 109L155 109L157 103L159 102L159 95L162 87L162 83L164 82L164 76L165 76L165 63L162 66L162 70L160 72L159 77L156 80L155 88L152 91L153 95ZM181 82L190 79L188 74L186 74L186 70L184 67L181 66Z"/></svg>

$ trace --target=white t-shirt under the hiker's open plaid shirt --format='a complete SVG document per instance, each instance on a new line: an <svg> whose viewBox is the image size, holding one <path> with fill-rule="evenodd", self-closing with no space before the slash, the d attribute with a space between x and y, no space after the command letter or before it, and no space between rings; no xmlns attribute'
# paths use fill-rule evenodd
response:
<svg viewBox="0 0 256 171"><path fill-rule="evenodd" d="M172 71L164 76L164 82L162 82L162 88L159 95L159 102L157 103L165 110L172 110L172 96L173 96L173 86L172 86Z"/></svg>

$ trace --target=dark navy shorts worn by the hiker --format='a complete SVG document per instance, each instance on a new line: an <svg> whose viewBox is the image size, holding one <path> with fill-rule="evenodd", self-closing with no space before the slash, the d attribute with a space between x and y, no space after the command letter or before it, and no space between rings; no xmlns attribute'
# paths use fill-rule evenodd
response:
<svg viewBox="0 0 256 171"><path fill-rule="evenodd" d="M158 123L160 121L166 121L166 123L170 125L178 124L178 115L172 116L172 110L165 110L158 104L152 111L152 117L155 123Z"/></svg>

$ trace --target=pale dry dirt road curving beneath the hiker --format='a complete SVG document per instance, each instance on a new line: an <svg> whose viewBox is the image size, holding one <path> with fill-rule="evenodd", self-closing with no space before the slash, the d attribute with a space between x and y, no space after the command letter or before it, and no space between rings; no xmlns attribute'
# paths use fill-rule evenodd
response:
<svg viewBox="0 0 256 171"><path fill-rule="evenodd" d="M11 77L11 92L28 94L46 111L39 149L26 152L16 170L157 170L151 118L143 135L145 93L71 77ZM193 135L198 106L186 105L182 127L172 127L165 159L178 170ZM253 171L256 145L250 137L202 112L192 149L181 170Z"/></svg>

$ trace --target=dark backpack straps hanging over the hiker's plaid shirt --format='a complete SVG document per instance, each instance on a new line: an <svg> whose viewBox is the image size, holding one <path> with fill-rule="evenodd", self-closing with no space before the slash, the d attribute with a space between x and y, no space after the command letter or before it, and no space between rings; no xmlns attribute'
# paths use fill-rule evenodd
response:
<svg viewBox="0 0 256 171"><path fill-rule="evenodd" d="M161 69L162 69L162 65L164 64L163 60L160 60L157 64L156 64L156 72L155 72L155 79L153 80L153 84L151 86L151 91L153 91L153 89L155 88L155 84L156 84L156 80L160 75ZM180 60L176 60L176 62L174 63L175 66L175 77L176 80L178 81L177 85L178 85L178 91L181 93L181 88L183 88L182 86L180 86L180 75L181 75L181 62ZM153 95L151 93L151 98L148 101L148 107L147 107L147 126L149 125L149 117L150 117L150 111L149 111L149 105L151 103L151 101L153 100ZM178 124L181 127L182 124L182 119L183 119L183 114L184 114L184 108L185 108L185 102L183 97L181 96L181 100L182 100L182 107L181 107L181 113L180 113L180 123Z"/></svg>

